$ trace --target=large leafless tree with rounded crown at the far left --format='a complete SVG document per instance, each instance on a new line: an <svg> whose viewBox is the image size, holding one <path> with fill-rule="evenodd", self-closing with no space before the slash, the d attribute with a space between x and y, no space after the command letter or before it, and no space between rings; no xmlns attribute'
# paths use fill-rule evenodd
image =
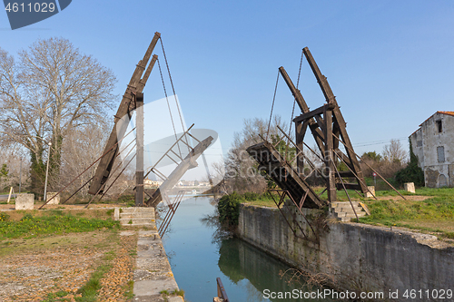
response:
<svg viewBox="0 0 454 302"><path fill-rule="evenodd" d="M115 82L111 70L63 38L36 41L17 63L0 48L0 140L30 151L32 181L42 179L44 159L59 175L64 138L104 119Z"/></svg>

